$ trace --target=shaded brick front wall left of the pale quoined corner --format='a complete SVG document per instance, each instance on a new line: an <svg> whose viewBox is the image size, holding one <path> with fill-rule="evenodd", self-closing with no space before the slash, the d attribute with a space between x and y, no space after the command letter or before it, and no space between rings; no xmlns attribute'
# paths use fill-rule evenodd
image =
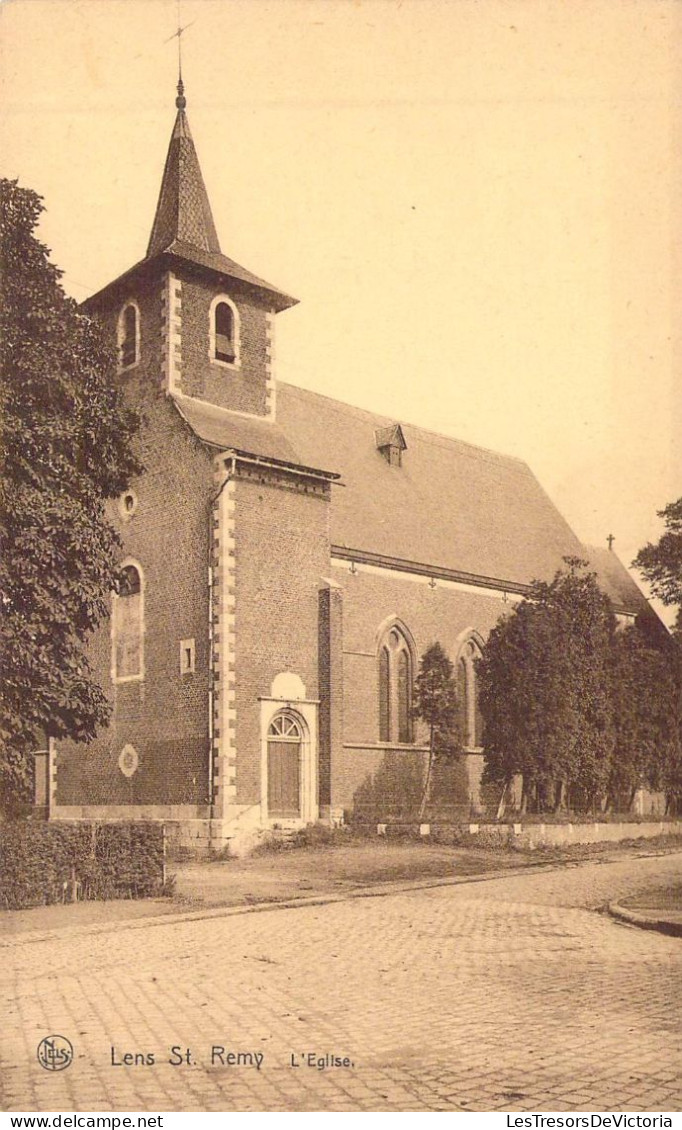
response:
<svg viewBox="0 0 682 1130"><path fill-rule="evenodd" d="M146 415L140 446L146 473L131 484L132 518L110 514L123 547L139 562L145 589L145 677L112 684L111 624L91 641L95 676L113 705L112 723L87 746L60 744L58 805L204 803L208 797L208 538L211 459L192 435L163 383L163 281L135 294L141 362L121 375ZM126 296L128 297L128 296ZM115 333L121 304L104 313ZM180 641L195 641L194 672L181 675ZM125 745L139 768L117 765Z"/></svg>

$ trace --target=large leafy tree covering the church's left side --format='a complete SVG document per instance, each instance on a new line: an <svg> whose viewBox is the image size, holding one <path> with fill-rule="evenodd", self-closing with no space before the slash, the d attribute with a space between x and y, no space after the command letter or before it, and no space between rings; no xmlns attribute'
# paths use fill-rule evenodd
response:
<svg viewBox="0 0 682 1130"><path fill-rule="evenodd" d="M106 520L142 468L116 359L34 229L41 198L0 181L0 786L27 799L44 734L91 738L108 718L85 644L108 611L119 539Z"/></svg>

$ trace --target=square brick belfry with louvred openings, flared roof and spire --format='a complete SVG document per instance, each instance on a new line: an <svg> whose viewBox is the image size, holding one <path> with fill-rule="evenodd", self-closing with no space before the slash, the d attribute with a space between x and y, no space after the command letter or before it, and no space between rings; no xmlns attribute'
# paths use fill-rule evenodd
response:
<svg viewBox="0 0 682 1130"><path fill-rule="evenodd" d="M180 78L145 259L86 310L111 320L122 373L139 370L178 406L273 421L274 316L296 299L222 254L186 105Z"/></svg>

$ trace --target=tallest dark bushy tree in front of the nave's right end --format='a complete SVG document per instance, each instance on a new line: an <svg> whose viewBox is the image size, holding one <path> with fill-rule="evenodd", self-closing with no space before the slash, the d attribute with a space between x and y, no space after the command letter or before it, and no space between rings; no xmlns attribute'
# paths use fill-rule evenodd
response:
<svg viewBox="0 0 682 1130"><path fill-rule="evenodd" d="M565 558L551 583L492 629L478 663L486 777L523 775L522 808L593 808L614 745L615 617L586 563Z"/></svg>

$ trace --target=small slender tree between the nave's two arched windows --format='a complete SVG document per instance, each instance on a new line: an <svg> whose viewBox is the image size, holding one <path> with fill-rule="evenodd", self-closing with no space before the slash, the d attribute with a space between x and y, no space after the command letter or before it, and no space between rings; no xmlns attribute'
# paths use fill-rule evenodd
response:
<svg viewBox="0 0 682 1130"><path fill-rule="evenodd" d="M436 759L457 754L461 749L457 686L453 664L439 643L427 647L419 661L413 713L414 718L421 719L429 728L429 762L419 809L421 819L426 811Z"/></svg>

